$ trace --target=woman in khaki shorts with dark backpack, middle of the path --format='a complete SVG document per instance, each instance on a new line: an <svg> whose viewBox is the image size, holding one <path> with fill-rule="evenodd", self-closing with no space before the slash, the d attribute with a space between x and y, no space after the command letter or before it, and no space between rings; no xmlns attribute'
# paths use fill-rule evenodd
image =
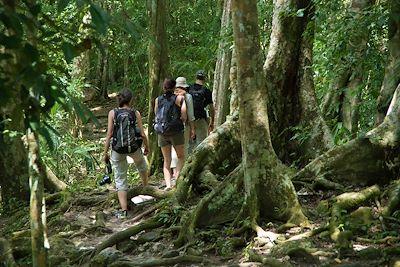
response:
<svg viewBox="0 0 400 267"><path fill-rule="evenodd" d="M158 134L158 146L164 158L163 173L166 190L171 188L171 147L173 146L178 162L176 175L179 175L185 161L184 124L186 123L186 103L181 95L175 95L176 81L165 79L163 83L164 94L157 97L154 105L156 114L154 130Z"/></svg>

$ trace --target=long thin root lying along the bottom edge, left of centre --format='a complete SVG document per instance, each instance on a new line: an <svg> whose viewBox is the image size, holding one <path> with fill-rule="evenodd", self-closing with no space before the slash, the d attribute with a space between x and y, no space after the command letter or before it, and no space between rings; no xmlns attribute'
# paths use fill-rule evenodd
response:
<svg viewBox="0 0 400 267"><path fill-rule="evenodd" d="M204 263L212 266L216 264L215 262L207 259L206 257L193 256L193 255L182 255L172 258L162 258L162 259L149 259L145 261L117 261L110 264L110 267L129 267L129 266L167 266L175 265L180 263Z"/></svg>

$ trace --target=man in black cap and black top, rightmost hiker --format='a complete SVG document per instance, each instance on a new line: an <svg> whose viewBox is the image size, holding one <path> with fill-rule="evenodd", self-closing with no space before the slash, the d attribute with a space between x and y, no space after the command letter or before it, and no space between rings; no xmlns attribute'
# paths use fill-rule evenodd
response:
<svg viewBox="0 0 400 267"><path fill-rule="evenodd" d="M206 75L203 70L196 72L196 81L189 87L189 94L193 98L194 125L196 130L196 139L189 144L189 153L191 153L213 130L214 125L214 106L211 91L204 85ZM207 116L206 107L210 112Z"/></svg>

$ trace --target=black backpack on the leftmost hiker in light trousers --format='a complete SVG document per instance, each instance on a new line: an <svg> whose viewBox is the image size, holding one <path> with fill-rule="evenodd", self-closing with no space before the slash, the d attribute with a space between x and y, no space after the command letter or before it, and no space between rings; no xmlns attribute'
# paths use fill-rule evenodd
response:
<svg viewBox="0 0 400 267"><path fill-rule="evenodd" d="M142 141L135 111L115 108L112 149L120 154L133 153L142 146Z"/></svg>

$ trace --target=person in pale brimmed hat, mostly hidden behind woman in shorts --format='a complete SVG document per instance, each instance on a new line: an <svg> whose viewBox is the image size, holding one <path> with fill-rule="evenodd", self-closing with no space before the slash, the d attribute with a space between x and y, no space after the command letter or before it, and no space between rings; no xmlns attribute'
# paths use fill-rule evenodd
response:
<svg viewBox="0 0 400 267"><path fill-rule="evenodd" d="M176 78L175 85L175 95L181 95L185 97L186 102L186 111L187 111L187 121L184 130L185 136L185 159L189 156L189 140L193 140L196 136L195 128L194 128L194 114L193 114L193 99L192 96L186 92L188 90L189 85L186 82L185 77ZM178 163L178 157L176 156L176 151L174 148L171 150L171 169L172 169L172 183L175 182L176 176L176 165Z"/></svg>

